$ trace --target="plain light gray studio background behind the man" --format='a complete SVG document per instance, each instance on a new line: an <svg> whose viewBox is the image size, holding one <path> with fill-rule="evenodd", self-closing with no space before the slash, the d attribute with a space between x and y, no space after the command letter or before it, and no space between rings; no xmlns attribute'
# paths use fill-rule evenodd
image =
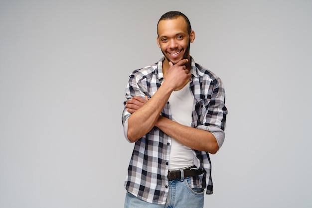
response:
<svg viewBox="0 0 312 208"><path fill-rule="evenodd" d="M311 207L312 1L1 0L1 208L123 207L127 78L169 10L226 88L205 208Z"/></svg>

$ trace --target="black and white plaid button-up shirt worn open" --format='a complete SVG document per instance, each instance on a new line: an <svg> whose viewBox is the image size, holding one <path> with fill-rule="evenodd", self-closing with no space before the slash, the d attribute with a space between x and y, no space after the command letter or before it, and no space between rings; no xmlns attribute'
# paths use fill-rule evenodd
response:
<svg viewBox="0 0 312 208"><path fill-rule="evenodd" d="M129 76L126 99L133 96L148 96L150 99L163 82L162 57L158 63L135 70ZM194 96L191 127L209 130L217 129L224 133L227 109L222 81L209 70L196 64L191 58L192 75L190 90ZM123 111L122 121L128 129L131 114ZM162 109L161 115L172 119L169 104ZM223 137L224 138L224 137ZM154 127L148 134L135 142L125 188L134 196L156 204L165 204L168 194L168 162L171 137ZM192 188L205 187L206 194L212 194L211 162L208 152L193 150L197 168L204 168L206 173L192 177Z"/></svg>

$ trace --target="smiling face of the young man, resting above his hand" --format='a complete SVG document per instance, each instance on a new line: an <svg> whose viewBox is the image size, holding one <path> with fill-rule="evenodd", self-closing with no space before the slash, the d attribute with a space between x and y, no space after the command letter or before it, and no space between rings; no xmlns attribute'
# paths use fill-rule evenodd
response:
<svg viewBox="0 0 312 208"><path fill-rule="evenodd" d="M194 41L195 33L191 31L188 34L187 23L183 17L160 20L157 31L157 44L166 62L176 64L185 58L189 60L189 47Z"/></svg>

